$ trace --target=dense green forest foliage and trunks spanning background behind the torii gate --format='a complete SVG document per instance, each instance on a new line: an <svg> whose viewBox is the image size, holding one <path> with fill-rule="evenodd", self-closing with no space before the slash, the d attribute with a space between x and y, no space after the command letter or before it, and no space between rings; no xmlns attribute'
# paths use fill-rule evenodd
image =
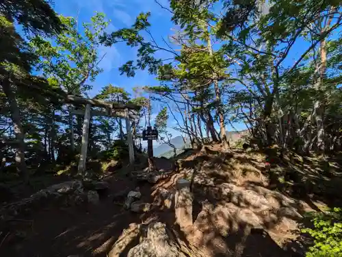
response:
<svg viewBox="0 0 342 257"><path fill-rule="evenodd" d="M101 13L79 24L57 16L47 1L1 1L1 173L17 175L26 164L34 173L75 162L83 117L73 117L60 99L87 97L102 72L102 45L120 42L136 51L120 72L133 77L146 70L159 82L131 94L108 84L96 95L142 106L131 126L136 149L142 149L153 101L163 106L155 125L164 143L170 143L172 119L172 129L192 147L224 143L226 125L244 123L260 147L276 144L306 154L342 149L339 1L169 3L176 29L169 42L161 42L151 33L149 12L109 33ZM123 130L120 118L92 117L89 155L105 150L105 158L124 158L126 145L115 141L123 142Z"/></svg>

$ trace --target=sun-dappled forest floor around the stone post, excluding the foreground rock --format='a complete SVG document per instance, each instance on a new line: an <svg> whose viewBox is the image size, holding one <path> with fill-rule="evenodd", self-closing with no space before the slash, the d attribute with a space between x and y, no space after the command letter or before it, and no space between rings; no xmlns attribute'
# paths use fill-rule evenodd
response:
<svg viewBox="0 0 342 257"><path fill-rule="evenodd" d="M192 228L180 231L172 209L156 206L136 214L115 204L110 195L137 182L112 173L106 178L109 197L97 206L49 206L8 221L10 230L0 232L0 256L105 257L117 247L120 251L109 257L123 257L139 243L129 232L151 219L166 223L204 256L302 256L306 238L298 229L304 214L341 205L339 158L323 161L292 153L280 160L272 150L225 154L213 145L187 151L176 162L179 171L155 185L140 184L140 192L144 202L152 203L160 188L175 191L176 180L191 180Z"/></svg>

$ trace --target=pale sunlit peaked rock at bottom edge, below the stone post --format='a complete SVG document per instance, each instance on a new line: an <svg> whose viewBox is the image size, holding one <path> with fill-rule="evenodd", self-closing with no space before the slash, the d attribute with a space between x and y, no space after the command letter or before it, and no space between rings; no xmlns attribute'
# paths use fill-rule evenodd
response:
<svg viewBox="0 0 342 257"><path fill-rule="evenodd" d="M127 257L185 257L185 254L168 236L166 225L156 222L148 225L146 237L129 250Z"/></svg>

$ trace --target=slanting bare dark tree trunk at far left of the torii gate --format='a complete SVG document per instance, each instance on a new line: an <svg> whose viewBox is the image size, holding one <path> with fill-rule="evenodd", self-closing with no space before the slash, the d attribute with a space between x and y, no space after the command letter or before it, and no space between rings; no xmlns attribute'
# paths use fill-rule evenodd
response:
<svg viewBox="0 0 342 257"><path fill-rule="evenodd" d="M8 102L10 103L11 117L14 125L14 134L16 136L16 169L23 177L25 183L29 182L29 174L25 162L25 142L23 126L21 125L21 116L16 103L16 98L12 92L10 84L6 81L2 82L3 93L5 93Z"/></svg>

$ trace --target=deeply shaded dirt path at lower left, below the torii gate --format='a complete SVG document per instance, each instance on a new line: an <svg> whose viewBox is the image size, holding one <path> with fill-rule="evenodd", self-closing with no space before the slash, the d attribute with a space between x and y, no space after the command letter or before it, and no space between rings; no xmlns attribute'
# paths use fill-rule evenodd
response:
<svg viewBox="0 0 342 257"><path fill-rule="evenodd" d="M114 178L109 183L109 194L133 186ZM141 188L143 197L149 190L148 185ZM135 222L140 222L139 215L123 210L111 197L98 206L40 210L25 221L12 221L10 233L0 237L5 238L0 240L0 256L106 256L122 230Z"/></svg>

